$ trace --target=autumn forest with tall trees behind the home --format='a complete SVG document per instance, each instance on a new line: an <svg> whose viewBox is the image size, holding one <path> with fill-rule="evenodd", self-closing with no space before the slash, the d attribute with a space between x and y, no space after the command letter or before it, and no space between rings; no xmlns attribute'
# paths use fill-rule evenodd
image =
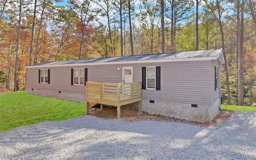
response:
<svg viewBox="0 0 256 160"><path fill-rule="evenodd" d="M223 49L224 103L256 106L255 0L0 0L0 89L47 61Z"/></svg>

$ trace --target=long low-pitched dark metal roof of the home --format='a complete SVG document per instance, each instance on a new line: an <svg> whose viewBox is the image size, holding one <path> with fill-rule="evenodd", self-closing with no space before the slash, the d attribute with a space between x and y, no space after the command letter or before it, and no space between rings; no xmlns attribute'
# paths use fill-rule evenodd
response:
<svg viewBox="0 0 256 160"><path fill-rule="evenodd" d="M144 54L130 55L124 57L109 57L109 58L92 58L83 60L66 60L43 62L31 66L49 66L49 65L71 65L83 63L101 63L101 62L126 62L126 61L143 61L143 60L162 60L162 59L182 59L182 58L203 58L203 57L218 57L221 50L205 50L205 51L189 51L177 53L162 53L162 54Z"/></svg>

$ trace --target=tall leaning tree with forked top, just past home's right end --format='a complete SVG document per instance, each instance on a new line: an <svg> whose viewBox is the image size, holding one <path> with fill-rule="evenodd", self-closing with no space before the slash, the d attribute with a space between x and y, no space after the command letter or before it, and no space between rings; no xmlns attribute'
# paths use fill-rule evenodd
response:
<svg viewBox="0 0 256 160"><path fill-rule="evenodd" d="M221 9L220 9L219 0L216 0L218 17L217 17L217 15L215 15L214 10L213 10L212 7L207 3L207 1L204 0L204 2L205 2L206 5L210 8L210 10L212 11L212 14L214 15L215 19L218 21L219 26L220 26L222 54L223 54L224 63L225 63L225 64L224 64L224 70L225 70L225 73L226 73L226 85L227 85L227 94L228 94L228 104L230 105L230 104L231 104L231 100L230 100L230 90L229 90L228 66L227 66L227 59L226 59L225 40L224 40L224 33L223 33L223 28L222 28Z"/></svg>

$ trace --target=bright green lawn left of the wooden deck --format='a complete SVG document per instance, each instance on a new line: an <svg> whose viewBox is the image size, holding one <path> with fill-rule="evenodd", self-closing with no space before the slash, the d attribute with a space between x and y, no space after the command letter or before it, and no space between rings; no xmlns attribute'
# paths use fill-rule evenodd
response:
<svg viewBox="0 0 256 160"><path fill-rule="evenodd" d="M85 103L47 98L26 92L0 93L0 131L85 114Z"/></svg>

